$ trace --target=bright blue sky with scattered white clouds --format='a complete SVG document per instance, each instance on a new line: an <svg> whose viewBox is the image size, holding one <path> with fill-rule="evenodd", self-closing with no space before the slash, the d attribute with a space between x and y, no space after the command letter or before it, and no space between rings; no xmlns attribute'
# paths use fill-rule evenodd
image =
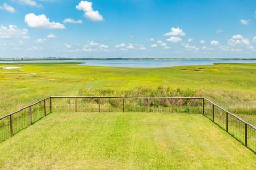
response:
<svg viewBox="0 0 256 170"><path fill-rule="evenodd" d="M256 58L255 0L0 0L0 58Z"/></svg>

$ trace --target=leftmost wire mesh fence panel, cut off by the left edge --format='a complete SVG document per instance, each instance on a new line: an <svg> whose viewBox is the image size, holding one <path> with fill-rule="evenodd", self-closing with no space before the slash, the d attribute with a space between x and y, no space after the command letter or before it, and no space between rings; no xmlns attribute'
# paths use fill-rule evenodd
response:
<svg viewBox="0 0 256 170"><path fill-rule="evenodd" d="M10 116L0 120L0 141L4 141L10 137Z"/></svg>

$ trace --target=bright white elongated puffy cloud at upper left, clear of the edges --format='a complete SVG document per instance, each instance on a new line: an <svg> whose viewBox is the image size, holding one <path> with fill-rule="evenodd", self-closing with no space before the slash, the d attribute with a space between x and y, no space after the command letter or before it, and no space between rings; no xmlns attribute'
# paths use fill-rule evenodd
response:
<svg viewBox="0 0 256 170"><path fill-rule="evenodd" d="M36 16L34 13L29 13L25 15L24 21L31 28L65 29L63 24L50 22L49 18L46 18L44 14Z"/></svg>

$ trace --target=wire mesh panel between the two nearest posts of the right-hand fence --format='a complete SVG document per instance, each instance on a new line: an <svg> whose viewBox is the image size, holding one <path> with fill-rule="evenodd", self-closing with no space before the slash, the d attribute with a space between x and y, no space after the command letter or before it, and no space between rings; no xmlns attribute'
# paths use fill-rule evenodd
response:
<svg viewBox="0 0 256 170"><path fill-rule="evenodd" d="M228 115L228 132L244 143L244 123L232 115Z"/></svg>

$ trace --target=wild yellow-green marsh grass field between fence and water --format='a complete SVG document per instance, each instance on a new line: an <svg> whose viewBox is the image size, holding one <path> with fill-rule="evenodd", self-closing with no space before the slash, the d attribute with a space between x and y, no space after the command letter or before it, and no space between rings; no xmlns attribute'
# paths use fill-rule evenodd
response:
<svg viewBox="0 0 256 170"><path fill-rule="evenodd" d="M0 64L0 115L54 95L198 96L209 98L256 125L255 75L256 64L159 69L76 63Z"/></svg>

